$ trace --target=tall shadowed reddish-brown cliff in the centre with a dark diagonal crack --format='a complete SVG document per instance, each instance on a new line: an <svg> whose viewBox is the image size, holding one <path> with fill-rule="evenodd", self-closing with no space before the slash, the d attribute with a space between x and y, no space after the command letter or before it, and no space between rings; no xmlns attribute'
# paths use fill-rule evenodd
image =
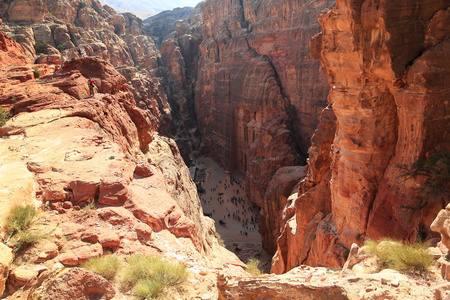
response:
<svg viewBox="0 0 450 300"><path fill-rule="evenodd" d="M263 206L272 175L300 162L327 83L307 43L319 32L318 1L207 1L202 6L195 105L203 143L222 165L247 173Z"/></svg>

